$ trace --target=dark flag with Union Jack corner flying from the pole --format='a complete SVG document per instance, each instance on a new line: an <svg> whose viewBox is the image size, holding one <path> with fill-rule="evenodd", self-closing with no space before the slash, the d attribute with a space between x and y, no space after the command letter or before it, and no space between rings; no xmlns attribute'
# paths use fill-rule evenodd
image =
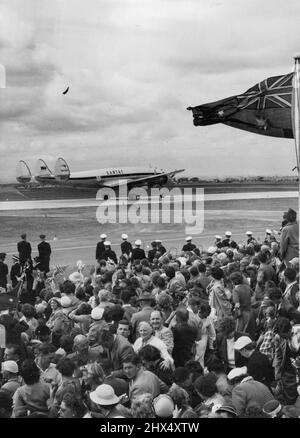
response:
<svg viewBox="0 0 300 438"><path fill-rule="evenodd" d="M255 134L293 138L293 74L267 78L243 94L187 109L193 112L195 126L223 123Z"/></svg>

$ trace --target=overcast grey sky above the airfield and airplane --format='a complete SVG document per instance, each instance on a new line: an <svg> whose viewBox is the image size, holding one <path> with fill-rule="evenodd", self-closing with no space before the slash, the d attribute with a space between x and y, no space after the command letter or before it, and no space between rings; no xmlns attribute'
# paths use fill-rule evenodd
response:
<svg viewBox="0 0 300 438"><path fill-rule="evenodd" d="M2 0L0 180L58 156L71 171L292 175L293 140L194 127L186 107L292 71L299 22L299 0Z"/></svg>

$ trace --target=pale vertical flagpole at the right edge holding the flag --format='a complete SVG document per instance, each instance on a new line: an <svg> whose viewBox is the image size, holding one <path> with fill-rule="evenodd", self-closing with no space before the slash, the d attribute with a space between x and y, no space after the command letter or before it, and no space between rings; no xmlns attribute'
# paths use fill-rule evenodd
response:
<svg viewBox="0 0 300 438"><path fill-rule="evenodd" d="M294 56L295 68L293 78L292 124L295 138L297 170L298 170L298 227L300 236L300 53ZM299 276L300 288L300 276Z"/></svg>

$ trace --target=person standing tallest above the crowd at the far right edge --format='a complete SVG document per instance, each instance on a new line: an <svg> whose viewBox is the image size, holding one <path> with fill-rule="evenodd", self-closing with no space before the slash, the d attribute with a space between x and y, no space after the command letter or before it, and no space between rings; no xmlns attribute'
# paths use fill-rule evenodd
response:
<svg viewBox="0 0 300 438"><path fill-rule="evenodd" d="M280 236L280 253L286 267L294 257L299 257L299 227L297 213L289 208L286 215L287 224Z"/></svg>

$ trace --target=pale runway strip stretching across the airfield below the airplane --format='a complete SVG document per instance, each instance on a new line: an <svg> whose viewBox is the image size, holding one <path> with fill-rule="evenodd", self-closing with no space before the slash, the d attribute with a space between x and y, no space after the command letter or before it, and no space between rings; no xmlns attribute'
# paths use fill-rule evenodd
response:
<svg viewBox="0 0 300 438"><path fill-rule="evenodd" d="M201 197L201 195L199 195ZM244 192L244 193L208 193L204 192L204 201L227 201L227 200L247 200L247 199L295 199L298 198L297 191L268 191L268 192ZM194 196L186 195L186 201L194 200ZM118 204L127 201L125 198L105 201L106 205ZM151 197L139 199L140 204L148 204L153 201ZM35 201L4 201L0 202L0 211L11 210L36 210L36 209L57 209L57 208L80 208L98 207L102 200L97 199L56 199L56 200L35 200ZM135 201L127 201L128 205ZM176 199L175 199L176 202Z"/></svg>

